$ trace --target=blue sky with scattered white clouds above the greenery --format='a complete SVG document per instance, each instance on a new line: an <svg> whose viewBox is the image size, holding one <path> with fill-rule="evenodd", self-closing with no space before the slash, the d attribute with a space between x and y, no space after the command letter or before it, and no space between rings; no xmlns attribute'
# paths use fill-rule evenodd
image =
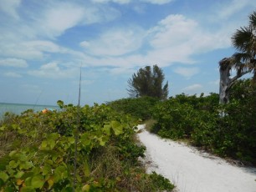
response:
<svg viewBox="0 0 256 192"><path fill-rule="evenodd" d="M127 98L127 80L157 64L169 96L218 93L252 0L0 0L0 102L77 104Z"/></svg>

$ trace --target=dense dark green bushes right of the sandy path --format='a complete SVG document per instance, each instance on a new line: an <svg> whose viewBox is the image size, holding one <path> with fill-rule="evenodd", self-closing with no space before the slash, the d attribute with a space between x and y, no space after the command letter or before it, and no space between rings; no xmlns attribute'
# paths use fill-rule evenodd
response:
<svg viewBox="0 0 256 192"><path fill-rule="evenodd" d="M177 95L157 104L151 132L188 139L215 154L256 164L255 93L255 85L248 79L233 86L226 105L218 104L218 94Z"/></svg>

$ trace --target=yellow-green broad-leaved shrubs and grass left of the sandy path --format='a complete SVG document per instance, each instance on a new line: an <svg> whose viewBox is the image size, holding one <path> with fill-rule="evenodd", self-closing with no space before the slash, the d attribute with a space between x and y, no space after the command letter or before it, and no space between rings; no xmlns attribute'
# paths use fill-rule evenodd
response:
<svg viewBox="0 0 256 192"><path fill-rule="evenodd" d="M117 113L105 104L79 110L72 104L58 104L61 112L28 110L19 116L6 114L0 122L1 191L173 189L161 175L146 174L138 161L145 147L135 143L137 121L131 115Z"/></svg>

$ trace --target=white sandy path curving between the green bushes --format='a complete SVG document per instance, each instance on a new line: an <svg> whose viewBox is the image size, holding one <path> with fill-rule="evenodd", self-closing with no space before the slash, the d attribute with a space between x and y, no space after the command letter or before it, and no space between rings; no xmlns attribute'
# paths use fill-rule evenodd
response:
<svg viewBox="0 0 256 192"><path fill-rule="evenodd" d="M161 139L142 129L146 166L177 186L180 192L256 192L256 169L238 167L186 144ZM256 153L256 152L255 152Z"/></svg>

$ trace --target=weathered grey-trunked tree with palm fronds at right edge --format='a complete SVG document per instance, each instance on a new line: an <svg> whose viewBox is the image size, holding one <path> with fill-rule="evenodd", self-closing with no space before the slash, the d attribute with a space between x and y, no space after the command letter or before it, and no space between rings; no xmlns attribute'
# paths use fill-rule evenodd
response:
<svg viewBox="0 0 256 192"><path fill-rule="evenodd" d="M240 28L233 34L232 43L239 52L219 62L220 104L228 104L230 88L244 74L253 72L253 81L256 83L256 12L249 16L248 27ZM236 75L230 78L232 69L235 69Z"/></svg>

